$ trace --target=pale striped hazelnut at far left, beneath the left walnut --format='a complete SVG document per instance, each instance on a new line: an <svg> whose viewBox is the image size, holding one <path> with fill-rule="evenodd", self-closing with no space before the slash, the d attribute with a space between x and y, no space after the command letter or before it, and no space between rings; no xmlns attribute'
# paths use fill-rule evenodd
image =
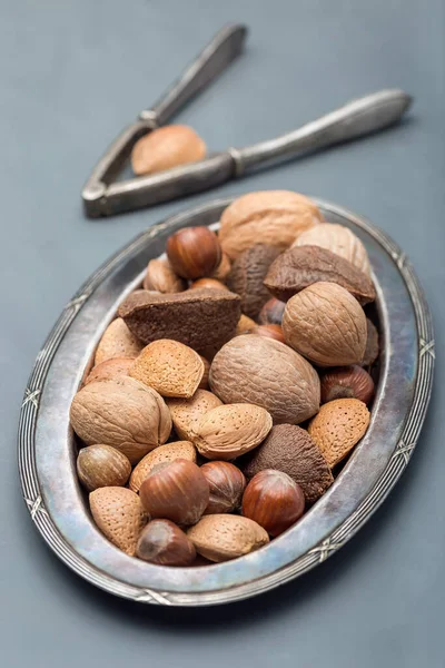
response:
<svg viewBox="0 0 445 668"><path fill-rule="evenodd" d="M111 445L89 445L78 454L77 473L82 485L92 492L102 487L123 487L130 477L131 464Z"/></svg>

